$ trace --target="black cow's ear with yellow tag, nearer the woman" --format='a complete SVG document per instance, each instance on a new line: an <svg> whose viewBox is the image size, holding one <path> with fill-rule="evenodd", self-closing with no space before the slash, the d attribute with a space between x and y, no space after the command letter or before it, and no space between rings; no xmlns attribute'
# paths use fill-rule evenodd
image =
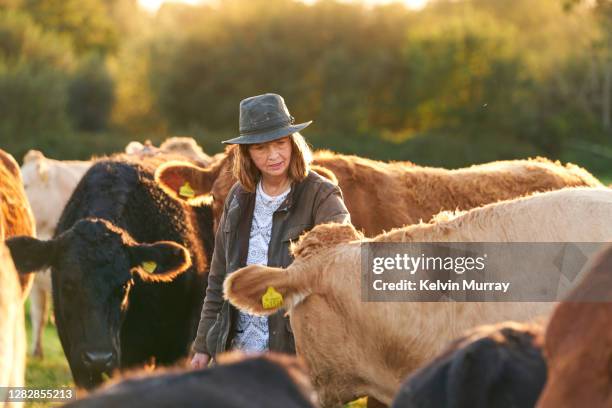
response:
<svg viewBox="0 0 612 408"><path fill-rule="evenodd" d="M134 244L128 251L132 270L144 282L172 282L191 266L189 251L175 242Z"/></svg>

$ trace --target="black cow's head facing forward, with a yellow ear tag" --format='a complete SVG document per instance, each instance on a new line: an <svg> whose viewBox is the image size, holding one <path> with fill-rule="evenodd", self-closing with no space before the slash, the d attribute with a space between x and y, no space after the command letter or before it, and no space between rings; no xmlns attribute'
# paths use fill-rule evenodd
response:
<svg viewBox="0 0 612 408"><path fill-rule="evenodd" d="M140 244L101 219L84 219L58 237L7 241L19 273L52 268L62 346L75 383L91 388L118 368L121 325L134 286L171 282L191 266L174 242Z"/></svg>

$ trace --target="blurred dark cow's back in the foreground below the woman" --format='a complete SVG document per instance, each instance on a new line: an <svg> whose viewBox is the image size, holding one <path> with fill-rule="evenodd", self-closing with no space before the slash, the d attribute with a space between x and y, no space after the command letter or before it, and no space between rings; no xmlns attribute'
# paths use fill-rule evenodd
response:
<svg viewBox="0 0 612 408"><path fill-rule="evenodd" d="M66 408L314 408L316 396L306 368L295 357L228 354L220 356L220 365L207 369L128 373Z"/></svg>

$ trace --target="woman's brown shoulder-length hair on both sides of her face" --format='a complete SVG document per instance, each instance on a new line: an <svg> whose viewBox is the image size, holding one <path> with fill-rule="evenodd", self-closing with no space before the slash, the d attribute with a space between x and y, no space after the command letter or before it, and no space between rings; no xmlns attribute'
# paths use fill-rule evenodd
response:
<svg viewBox="0 0 612 408"><path fill-rule="evenodd" d="M289 162L289 178L298 183L306 178L310 171L312 162L312 151L298 132L289 135L291 139L291 160ZM249 154L249 145L238 145L234 151L234 165L232 171L234 177L240 181L242 187L251 193L255 192L257 182L261 178L261 172L253 163Z"/></svg>

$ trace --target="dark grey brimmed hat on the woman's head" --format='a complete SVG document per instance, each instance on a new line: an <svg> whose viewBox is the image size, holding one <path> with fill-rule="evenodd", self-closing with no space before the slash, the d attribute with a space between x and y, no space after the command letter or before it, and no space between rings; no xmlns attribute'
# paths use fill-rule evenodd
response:
<svg viewBox="0 0 612 408"><path fill-rule="evenodd" d="M293 124L282 96L263 94L240 102L240 136L224 140L225 144L265 143L299 132L312 121Z"/></svg>

